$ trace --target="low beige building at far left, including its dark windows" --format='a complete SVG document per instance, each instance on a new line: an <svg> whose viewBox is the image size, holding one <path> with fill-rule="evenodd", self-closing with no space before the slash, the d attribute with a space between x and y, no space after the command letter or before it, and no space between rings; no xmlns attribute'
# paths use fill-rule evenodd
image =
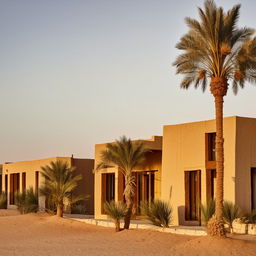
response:
<svg viewBox="0 0 256 256"><path fill-rule="evenodd" d="M74 191L75 195L90 195L90 199L84 202L86 213L94 212L94 160L77 159L73 157L52 157L47 159L5 163L2 165L2 191L7 192L7 207L16 208L15 193L24 191L30 187L38 191L44 180L40 174L41 167L49 165L52 161L62 160L69 166L76 167L75 174L81 174L82 180ZM39 207L45 207L44 197L39 197Z"/></svg>

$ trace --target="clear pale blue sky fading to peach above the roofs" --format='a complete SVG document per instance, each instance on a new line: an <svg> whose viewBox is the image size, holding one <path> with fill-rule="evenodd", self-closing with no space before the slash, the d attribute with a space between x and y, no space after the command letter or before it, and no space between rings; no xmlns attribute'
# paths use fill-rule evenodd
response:
<svg viewBox="0 0 256 256"><path fill-rule="evenodd" d="M239 26L255 27L256 2ZM209 89L181 90L172 66L195 0L0 0L0 163L93 158L94 146L163 125L214 119ZM225 116L256 118L256 86L225 97Z"/></svg>

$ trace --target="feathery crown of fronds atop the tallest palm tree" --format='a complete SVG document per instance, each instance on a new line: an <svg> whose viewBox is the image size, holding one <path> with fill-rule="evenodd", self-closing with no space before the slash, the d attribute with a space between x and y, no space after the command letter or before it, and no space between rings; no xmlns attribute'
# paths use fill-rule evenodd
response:
<svg viewBox="0 0 256 256"><path fill-rule="evenodd" d="M184 76L181 88L194 84L205 91L207 80L213 77L233 80L234 93L246 81L256 83L254 30L237 26L239 11L240 5L235 5L225 13L214 1L206 0L204 9L198 8L199 20L185 19L189 31L177 43L176 48L183 53L173 63L176 72ZM200 70L206 70L206 78L199 79ZM234 81L236 70L244 74L240 81Z"/></svg>

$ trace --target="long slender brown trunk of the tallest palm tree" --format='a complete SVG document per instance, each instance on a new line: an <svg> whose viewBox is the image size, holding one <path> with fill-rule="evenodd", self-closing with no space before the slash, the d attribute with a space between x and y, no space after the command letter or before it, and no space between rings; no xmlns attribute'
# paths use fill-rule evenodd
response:
<svg viewBox="0 0 256 256"><path fill-rule="evenodd" d="M223 139L223 96L215 97L216 110L216 217L222 219L223 213L223 173L224 173L224 139Z"/></svg>

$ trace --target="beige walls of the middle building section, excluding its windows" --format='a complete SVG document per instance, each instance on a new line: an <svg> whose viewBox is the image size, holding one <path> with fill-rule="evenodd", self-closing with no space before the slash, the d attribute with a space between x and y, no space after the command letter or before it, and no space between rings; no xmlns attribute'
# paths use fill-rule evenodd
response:
<svg viewBox="0 0 256 256"><path fill-rule="evenodd" d="M155 176L155 198L160 197L161 193L161 166L162 166L162 137L154 136L152 139L143 140L146 147L151 149L152 152L146 155L145 162L137 166L135 171L146 171L146 170L158 170ZM101 161L101 152L106 149L107 144L95 145L95 167ZM103 173L115 173L115 200L118 201L118 180L121 172L118 171L117 167L106 168L103 170L95 171L95 218L106 219L107 216L102 214L102 174Z"/></svg>

